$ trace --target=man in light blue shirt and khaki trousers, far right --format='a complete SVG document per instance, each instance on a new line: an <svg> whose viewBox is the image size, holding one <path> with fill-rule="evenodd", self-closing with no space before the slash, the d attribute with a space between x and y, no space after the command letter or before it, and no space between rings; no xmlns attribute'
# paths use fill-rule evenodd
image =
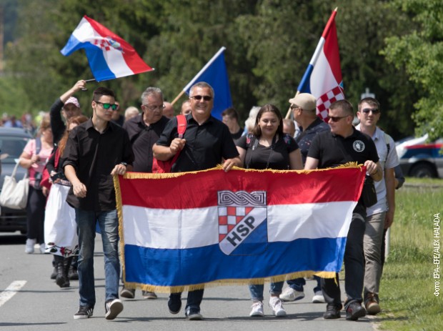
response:
<svg viewBox="0 0 443 331"><path fill-rule="evenodd" d="M375 183L377 204L367 208L366 230L364 232L364 306L369 315L377 315L379 287L382 277L382 241L384 229L394 221L395 174L399 165L394 140L377 127L380 119L380 104L377 99L365 98L359 102L357 117L360 124L356 129L367 134L375 143L382 172L381 181Z"/></svg>

